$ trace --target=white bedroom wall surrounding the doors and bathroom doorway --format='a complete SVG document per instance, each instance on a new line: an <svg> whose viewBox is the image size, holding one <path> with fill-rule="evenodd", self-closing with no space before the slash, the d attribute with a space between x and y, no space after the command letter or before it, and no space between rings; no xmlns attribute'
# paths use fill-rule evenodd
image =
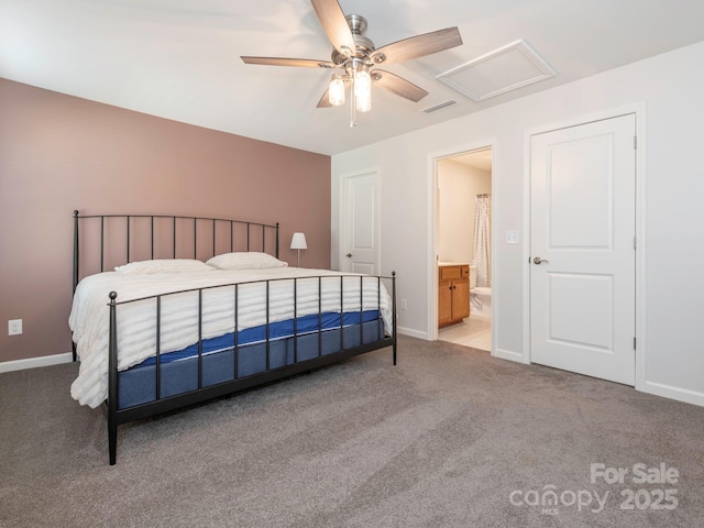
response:
<svg viewBox="0 0 704 528"><path fill-rule="evenodd" d="M495 349L527 359L524 237L501 243L501 233L526 233L527 150L531 132L644 108L645 307L638 354L645 391L704 405L704 43L572 82L543 94L394 138L332 158L332 265L338 264L339 179L377 169L381 176L382 272L396 271L399 330L427 337L430 320L429 193L432 158L494 146ZM639 125L644 127L640 122ZM645 341L645 342L642 342ZM403 354L403 351L402 351ZM638 374L637 374L638 375Z"/></svg>

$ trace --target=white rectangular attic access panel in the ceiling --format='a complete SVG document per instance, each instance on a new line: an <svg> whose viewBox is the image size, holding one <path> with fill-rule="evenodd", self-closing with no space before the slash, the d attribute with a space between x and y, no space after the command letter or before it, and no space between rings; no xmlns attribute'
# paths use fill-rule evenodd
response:
<svg viewBox="0 0 704 528"><path fill-rule="evenodd" d="M554 77L554 70L525 41L516 41L436 78L480 102Z"/></svg>

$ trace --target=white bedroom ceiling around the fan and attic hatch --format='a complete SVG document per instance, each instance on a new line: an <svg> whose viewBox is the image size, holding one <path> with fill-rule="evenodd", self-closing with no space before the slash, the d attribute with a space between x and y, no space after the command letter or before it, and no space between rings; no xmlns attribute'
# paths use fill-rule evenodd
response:
<svg viewBox="0 0 704 528"><path fill-rule="evenodd" d="M376 47L449 26L463 45L386 68L430 92L375 88L317 109L330 70L240 55L330 58L308 0L0 0L0 77L306 151L337 154L704 40L702 0L340 0ZM524 40L557 76L474 102L436 76ZM428 114L422 109L454 99Z"/></svg>

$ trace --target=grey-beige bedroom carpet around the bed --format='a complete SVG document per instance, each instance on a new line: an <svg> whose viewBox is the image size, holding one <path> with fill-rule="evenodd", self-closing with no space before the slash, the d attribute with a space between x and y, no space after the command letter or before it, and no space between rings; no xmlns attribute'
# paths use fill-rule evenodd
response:
<svg viewBox="0 0 704 528"><path fill-rule="evenodd" d="M116 466L101 411L68 394L76 370L0 374L2 527L704 519L704 408L451 343L402 337L397 366L376 351L121 426ZM669 482L638 482L662 464Z"/></svg>

